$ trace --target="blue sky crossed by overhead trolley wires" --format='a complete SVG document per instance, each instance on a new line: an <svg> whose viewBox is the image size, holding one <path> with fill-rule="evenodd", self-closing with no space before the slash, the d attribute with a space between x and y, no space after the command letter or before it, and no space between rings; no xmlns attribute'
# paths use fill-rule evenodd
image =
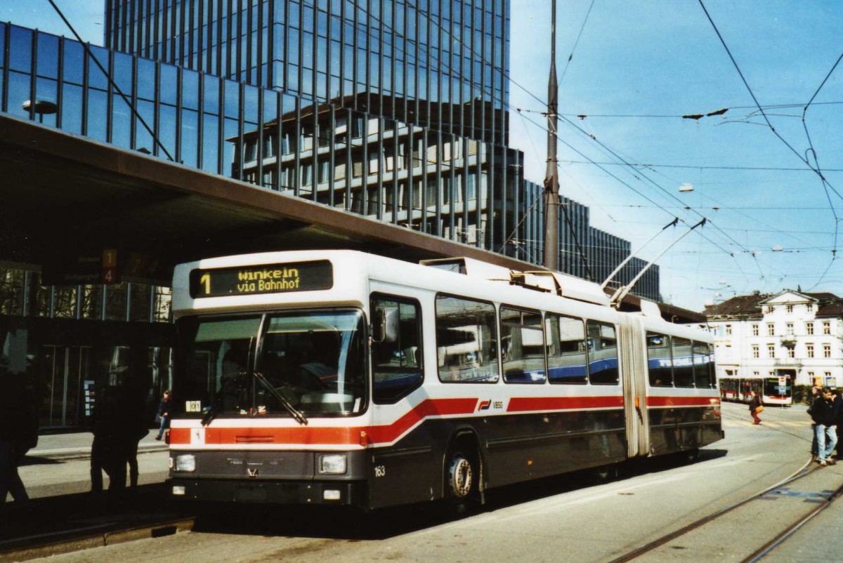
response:
<svg viewBox="0 0 843 563"><path fill-rule="evenodd" d="M84 39L102 43L102 0L59 4ZM638 251L674 217L708 220L658 260L663 298L700 310L753 290L843 296L843 258L832 260L843 240L843 62L829 75L843 54L840 4L558 4L561 192L648 260L684 233L670 228ZM0 0L0 19L72 35L47 0ZM511 144L537 182L549 42L550 0L512 0Z"/></svg>

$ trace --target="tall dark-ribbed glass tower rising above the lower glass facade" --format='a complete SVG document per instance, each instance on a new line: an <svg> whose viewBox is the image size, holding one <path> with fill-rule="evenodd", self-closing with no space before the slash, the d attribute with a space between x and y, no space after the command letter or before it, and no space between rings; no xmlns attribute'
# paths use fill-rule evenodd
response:
<svg viewBox="0 0 843 563"><path fill-rule="evenodd" d="M108 0L105 45L507 144L505 0Z"/></svg>

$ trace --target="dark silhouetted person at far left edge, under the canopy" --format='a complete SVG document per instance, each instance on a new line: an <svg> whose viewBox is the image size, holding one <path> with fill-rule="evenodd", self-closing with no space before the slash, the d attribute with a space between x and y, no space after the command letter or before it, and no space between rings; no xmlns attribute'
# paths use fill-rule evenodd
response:
<svg viewBox="0 0 843 563"><path fill-rule="evenodd" d="M8 356L0 355L0 510L5 513L11 493L14 506L30 504L18 466L30 448L38 444L38 417L24 373L11 373Z"/></svg>

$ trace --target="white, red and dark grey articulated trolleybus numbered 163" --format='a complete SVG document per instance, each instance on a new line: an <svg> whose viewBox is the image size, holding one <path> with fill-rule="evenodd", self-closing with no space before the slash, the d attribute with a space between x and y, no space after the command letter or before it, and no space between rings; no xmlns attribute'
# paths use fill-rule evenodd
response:
<svg viewBox="0 0 843 563"><path fill-rule="evenodd" d="M447 499L722 438L711 336L590 282L349 250L175 269L172 494Z"/></svg>

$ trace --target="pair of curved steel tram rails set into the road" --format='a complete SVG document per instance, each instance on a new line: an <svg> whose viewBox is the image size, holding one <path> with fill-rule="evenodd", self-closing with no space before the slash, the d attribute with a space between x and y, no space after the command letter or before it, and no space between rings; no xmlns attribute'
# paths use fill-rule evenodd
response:
<svg viewBox="0 0 843 563"><path fill-rule="evenodd" d="M636 560L642 555L646 555L651 553L654 550L657 550L660 547L666 546L671 544L677 539L684 538L688 536L691 532L703 528L706 524L712 523L717 521L719 518L738 510L741 507L746 507L750 503L755 501L761 501L765 498L770 498L771 493L781 493L782 495L787 495L786 487L787 485L792 485L797 483L799 480L803 480L807 478L809 475L817 475L817 471L819 470L819 466L813 464L812 459L808 459L808 461L803 464L799 469L794 471L791 475L788 475L785 479L778 481L774 485L770 485L765 487L762 491L755 492L752 495L746 496L744 499L734 502L733 504L728 505L727 507L722 507L721 509L717 510L716 512L712 512L711 514L707 515L706 517L701 517L695 520L692 523L685 525L682 528L674 530L669 534L665 534L658 539L654 539L647 544L642 545L641 547L637 548L636 550L631 550L630 552L626 553L625 555L621 555L609 563L623 563L625 561ZM754 561L761 560L771 553L771 551L775 550L776 547L783 544L787 539L791 538L793 534L795 534L799 529L803 528L813 517L816 517L820 512L823 512L826 508L830 507L831 504L838 500L840 496L843 496L843 485L838 486L835 491L833 491L830 495L817 495L821 501L815 500L814 502L818 502L818 504L813 507L807 513L801 513L797 519L792 523L787 525L786 528L782 529L781 532L776 534L773 539L765 542L760 548L753 551L752 554L745 557L741 561L743 563L754 563Z"/></svg>

